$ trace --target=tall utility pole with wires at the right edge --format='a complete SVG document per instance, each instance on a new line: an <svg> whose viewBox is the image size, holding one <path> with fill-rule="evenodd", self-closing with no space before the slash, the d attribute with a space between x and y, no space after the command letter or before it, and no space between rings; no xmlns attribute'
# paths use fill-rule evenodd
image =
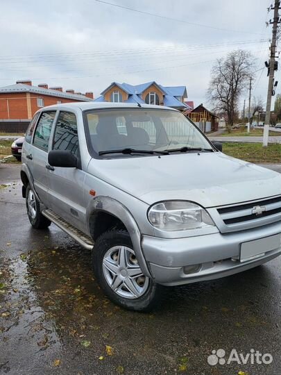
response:
<svg viewBox="0 0 281 375"><path fill-rule="evenodd" d="M262 145L267 147L269 144L269 124L271 119L271 96L273 94L273 84L274 84L274 68L275 68L275 53L276 53L276 44L277 44L277 29L279 22L279 6L280 0L275 0L274 7L271 6L270 10L274 10L273 21L270 21L270 24L273 24L272 28L272 40L270 48L270 59L269 59L269 87L267 89L267 100L266 100L266 117L264 122L264 139Z"/></svg>

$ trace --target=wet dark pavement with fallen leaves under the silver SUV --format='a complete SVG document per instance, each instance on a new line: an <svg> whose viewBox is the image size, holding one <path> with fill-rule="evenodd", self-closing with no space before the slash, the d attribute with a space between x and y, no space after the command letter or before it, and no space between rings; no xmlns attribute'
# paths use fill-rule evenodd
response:
<svg viewBox="0 0 281 375"><path fill-rule="evenodd" d="M19 165L0 165L0 374L280 375L280 260L164 288L149 314L122 310L94 281L90 251L53 224L31 228ZM217 349L273 362L211 366Z"/></svg>

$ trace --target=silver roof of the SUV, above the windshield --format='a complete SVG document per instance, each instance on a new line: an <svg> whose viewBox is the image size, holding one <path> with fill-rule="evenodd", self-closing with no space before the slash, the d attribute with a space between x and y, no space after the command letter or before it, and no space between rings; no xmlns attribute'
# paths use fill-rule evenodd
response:
<svg viewBox="0 0 281 375"><path fill-rule="evenodd" d="M56 109L56 110L62 110L62 109L68 109L68 110L77 110L80 108L80 110L96 110L96 109L103 109L103 108L146 108L146 109L164 109L164 110L176 110L171 107L166 106L153 106L149 104L142 104L141 107L137 103L111 103L111 102L85 102L85 101L78 101L75 103L62 103L62 104L56 104L53 106L47 106L44 108L41 108L41 110L45 109Z"/></svg>

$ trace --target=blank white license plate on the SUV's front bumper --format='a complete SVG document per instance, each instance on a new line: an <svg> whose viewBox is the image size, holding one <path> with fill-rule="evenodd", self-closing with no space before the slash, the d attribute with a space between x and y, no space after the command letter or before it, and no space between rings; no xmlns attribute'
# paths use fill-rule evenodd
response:
<svg viewBox="0 0 281 375"><path fill-rule="evenodd" d="M264 256L267 251L278 249L281 245L281 235L259 238L259 240L244 242L241 244L240 262Z"/></svg>

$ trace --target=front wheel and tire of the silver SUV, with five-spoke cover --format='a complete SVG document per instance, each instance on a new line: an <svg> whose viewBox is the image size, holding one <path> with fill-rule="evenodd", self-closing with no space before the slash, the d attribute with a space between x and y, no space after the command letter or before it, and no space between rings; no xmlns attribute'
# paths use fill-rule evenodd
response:
<svg viewBox="0 0 281 375"><path fill-rule="evenodd" d="M144 276L130 235L113 228L97 238L92 251L96 281L108 298L127 310L148 312L160 297L160 285Z"/></svg>

